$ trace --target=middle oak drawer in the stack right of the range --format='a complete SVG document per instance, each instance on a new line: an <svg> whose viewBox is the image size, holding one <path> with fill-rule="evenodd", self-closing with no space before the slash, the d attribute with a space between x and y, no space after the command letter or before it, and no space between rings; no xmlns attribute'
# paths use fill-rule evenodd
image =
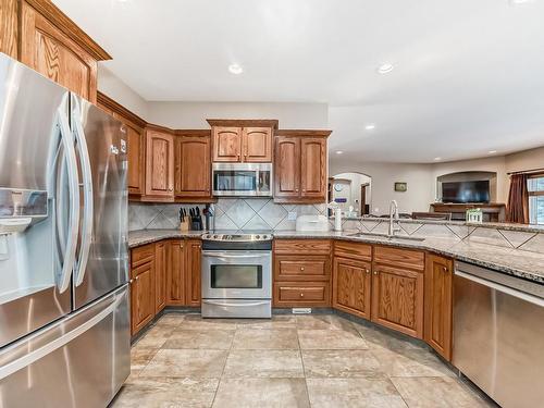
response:
<svg viewBox="0 0 544 408"><path fill-rule="evenodd" d="M331 264L326 256L274 257L276 281L329 281L330 276Z"/></svg>

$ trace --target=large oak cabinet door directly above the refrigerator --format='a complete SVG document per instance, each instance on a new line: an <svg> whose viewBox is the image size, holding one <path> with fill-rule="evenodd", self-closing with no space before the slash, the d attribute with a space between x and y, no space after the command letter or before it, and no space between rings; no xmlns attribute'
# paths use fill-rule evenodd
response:
<svg viewBox="0 0 544 408"><path fill-rule="evenodd" d="M96 102L97 61L21 1L21 62Z"/></svg>

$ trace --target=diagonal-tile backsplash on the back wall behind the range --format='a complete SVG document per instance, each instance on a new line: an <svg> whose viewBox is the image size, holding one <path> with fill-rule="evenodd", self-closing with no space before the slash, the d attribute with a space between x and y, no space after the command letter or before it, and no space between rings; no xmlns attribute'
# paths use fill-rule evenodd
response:
<svg viewBox="0 0 544 408"><path fill-rule="evenodd" d="M128 231L169 230L180 226L180 207L196 205L128 203ZM199 205L200 209L205 206ZM279 205L270 198L220 198L215 207L217 230L295 230L296 215L326 214L326 205Z"/></svg>

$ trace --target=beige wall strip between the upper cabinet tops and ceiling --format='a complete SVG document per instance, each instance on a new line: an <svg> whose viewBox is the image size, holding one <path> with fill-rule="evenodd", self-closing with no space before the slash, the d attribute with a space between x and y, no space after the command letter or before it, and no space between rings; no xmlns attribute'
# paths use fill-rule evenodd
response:
<svg viewBox="0 0 544 408"><path fill-rule="evenodd" d="M281 128L326 129L326 103L149 102L149 121L172 128L209 128L207 119L277 119Z"/></svg>

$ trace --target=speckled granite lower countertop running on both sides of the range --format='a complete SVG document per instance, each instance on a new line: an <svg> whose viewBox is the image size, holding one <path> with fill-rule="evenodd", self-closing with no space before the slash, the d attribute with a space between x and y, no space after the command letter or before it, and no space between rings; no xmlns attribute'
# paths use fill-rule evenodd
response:
<svg viewBox="0 0 544 408"><path fill-rule="evenodd" d="M502 273L544 284L544 254L505 248L490 244L475 244L453 238L426 238L424 240L395 239L380 236L353 236L358 231L301 232L275 231L274 238L334 238L358 243L382 244L401 248L432 250L456 260L490 268ZM166 238L198 238L205 232L178 230L143 230L128 233L128 246L134 248Z"/></svg>

